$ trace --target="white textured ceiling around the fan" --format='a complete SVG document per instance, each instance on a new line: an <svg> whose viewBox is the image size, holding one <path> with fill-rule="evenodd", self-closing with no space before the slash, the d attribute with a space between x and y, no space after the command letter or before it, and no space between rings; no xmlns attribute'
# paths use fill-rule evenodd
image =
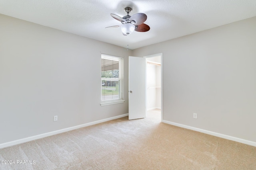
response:
<svg viewBox="0 0 256 170"><path fill-rule="evenodd" d="M145 13L150 31L106 29L126 7ZM136 49L256 16L256 0L0 0L0 14Z"/></svg>

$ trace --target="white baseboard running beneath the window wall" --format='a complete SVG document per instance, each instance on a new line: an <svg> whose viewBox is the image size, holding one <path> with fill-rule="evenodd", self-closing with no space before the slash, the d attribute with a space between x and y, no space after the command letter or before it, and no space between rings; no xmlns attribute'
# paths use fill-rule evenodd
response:
<svg viewBox="0 0 256 170"><path fill-rule="evenodd" d="M58 131L52 131L52 132L43 133L43 134L32 136L32 137L27 137L27 138L24 138L24 139L18 139L16 141L2 143L2 144L0 144L0 149L10 147L10 146L13 146L13 145L18 145L18 144L25 143L25 142L29 142L29 141L34 141L36 139L41 139L41 138L52 136L52 135L57 135L59 133L64 133L64 132L67 132L67 131L72 131L72 130L79 129L79 128L82 128L82 127L95 125L95 124L102 123L102 122L105 122L105 121L110 121L110 120L118 119L118 118L121 118L121 117L126 117L126 116L128 116L128 113L123 114L123 115L119 115L119 116L110 117L110 118L107 118L107 119L93 121L93 122L90 122L90 123L85 123L85 124L78 125L78 126L73 126L73 127L68 127L68 128L65 128L65 129L60 129Z"/></svg>

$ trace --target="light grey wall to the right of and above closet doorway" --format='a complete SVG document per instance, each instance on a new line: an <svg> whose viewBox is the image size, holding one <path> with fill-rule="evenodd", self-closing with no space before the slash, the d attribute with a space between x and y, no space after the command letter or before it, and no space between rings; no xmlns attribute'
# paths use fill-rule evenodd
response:
<svg viewBox="0 0 256 170"><path fill-rule="evenodd" d="M256 142L256 17L132 55L158 53L163 53L164 120Z"/></svg>

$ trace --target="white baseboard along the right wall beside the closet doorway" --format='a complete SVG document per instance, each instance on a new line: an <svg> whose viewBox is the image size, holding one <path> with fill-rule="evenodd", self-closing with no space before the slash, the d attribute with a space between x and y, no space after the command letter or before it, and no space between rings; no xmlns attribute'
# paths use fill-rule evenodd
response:
<svg viewBox="0 0 256 170"><path fill-rule="evenodd" d="M245 140L245 139L240 139L240 138L237 138L237 137L228 136L228 135L224 135L224 134L221 134L221 133L207 131L207 130L199 129L199 128L196 128L196 127L182 125L182 124L174 123L174 122L171 122L171 121L163 120L162 122L170 124L170 125L178 126L178 127L183 127L185 129L190 129L190 130L193 130L193 131L198 131L198 132L206 133L208 135L212 135L212 136L216 136L216 137L221 137L221 138L224 138L224 139L228 139L228 140L231 140L231 141L236 141L236 142L239 142L239 143L244 143L246 145L251 145L251 146L256 147L256 142L253 142L253 141L248 141L248 140Z"/></svg>

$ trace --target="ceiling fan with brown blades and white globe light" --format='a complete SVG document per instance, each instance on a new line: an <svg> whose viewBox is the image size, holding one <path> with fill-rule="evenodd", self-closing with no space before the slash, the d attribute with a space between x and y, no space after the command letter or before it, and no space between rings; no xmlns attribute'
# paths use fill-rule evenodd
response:
<svg viewBox="0 0 256 170"><path fill-rule="evenodd" d="M122 25L115 25L110 26L112 28L114 27L121 27L121 31L123 35L129 35L133 31L138 32L146 32L149 31L150 27L145 24L144 22L147 20L146 14L143 13L137 13L132 16L129 16L130 12L132 11L132 8L124 8L124 11L126 12L126 16L123 18L120 16L117 16L116 14L110 14L114 19L121 21ZM106 28L110 28L106 27Z"/></svg>

